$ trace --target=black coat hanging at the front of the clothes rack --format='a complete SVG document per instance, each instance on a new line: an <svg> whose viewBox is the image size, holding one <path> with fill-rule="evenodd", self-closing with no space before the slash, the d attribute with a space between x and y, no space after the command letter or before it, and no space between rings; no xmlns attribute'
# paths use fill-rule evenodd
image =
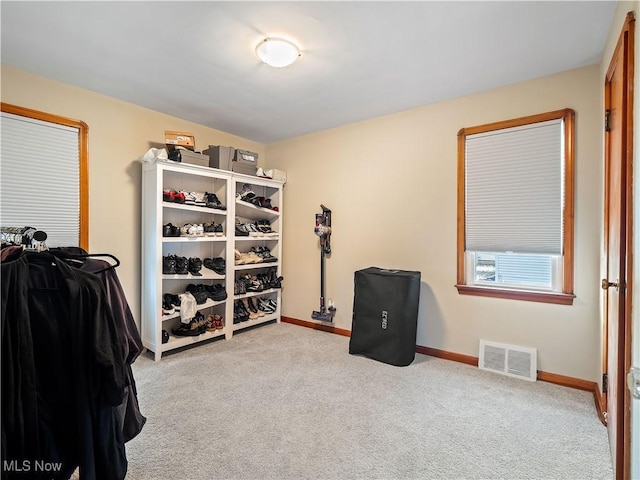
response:
<svg viewBox="0 0 640 480"><path fill-rule="evenodd" d="M124 478L126 354L104 285L47 253L0 270L3 478Z"/></svg>

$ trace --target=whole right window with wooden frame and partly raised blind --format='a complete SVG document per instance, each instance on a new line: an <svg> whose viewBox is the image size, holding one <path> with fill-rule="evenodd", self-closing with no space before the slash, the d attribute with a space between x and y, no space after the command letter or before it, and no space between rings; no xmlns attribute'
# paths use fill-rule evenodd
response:
<svg viewBox="0 0 640 480"><path fill-rule="evenodd" d="M458 292L573 303L570 109L458 133Z"/></svg>

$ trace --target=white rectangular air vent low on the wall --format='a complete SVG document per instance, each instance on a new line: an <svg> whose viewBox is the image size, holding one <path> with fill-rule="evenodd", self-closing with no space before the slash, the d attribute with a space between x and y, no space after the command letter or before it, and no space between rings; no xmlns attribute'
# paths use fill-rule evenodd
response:
<svg viewBox="0 0 640 480"><path fill-rule="evenodd" d="M537 365L537 350L535 348L480 340L478 367L482 370L490 370L535 382Z"/></svg>

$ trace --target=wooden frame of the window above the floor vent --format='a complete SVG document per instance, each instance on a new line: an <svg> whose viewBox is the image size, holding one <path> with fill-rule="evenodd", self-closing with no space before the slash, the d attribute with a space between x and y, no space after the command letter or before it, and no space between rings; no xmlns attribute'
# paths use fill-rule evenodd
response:
<svg viewBox="0 0 640 480"><path fill-rule="evenodd" d="M562 222L564 235L562 240L562 292L540 292L535 290L468 285L465 268L465 151L466 137L505 128L530 125L533 123L561 119L564 121L564 209ZM574 196L575 196L575 112L572 109L530 115L526 117L488 123L476 127L463 128L458 132L458 238L457 238L457 283L461 295L507 298L531 302L572 305L574 268Z"/></svg>

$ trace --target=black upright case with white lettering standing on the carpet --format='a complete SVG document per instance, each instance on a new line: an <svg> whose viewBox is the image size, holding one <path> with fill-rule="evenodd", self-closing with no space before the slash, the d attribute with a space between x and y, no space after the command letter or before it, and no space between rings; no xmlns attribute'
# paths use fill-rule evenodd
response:
<svg viewBox="0 0 640 480"><path fill-rule="evenodd" d="M419 301L420 272L356 271L349 353L409 365L416 354Z"/></svg>

